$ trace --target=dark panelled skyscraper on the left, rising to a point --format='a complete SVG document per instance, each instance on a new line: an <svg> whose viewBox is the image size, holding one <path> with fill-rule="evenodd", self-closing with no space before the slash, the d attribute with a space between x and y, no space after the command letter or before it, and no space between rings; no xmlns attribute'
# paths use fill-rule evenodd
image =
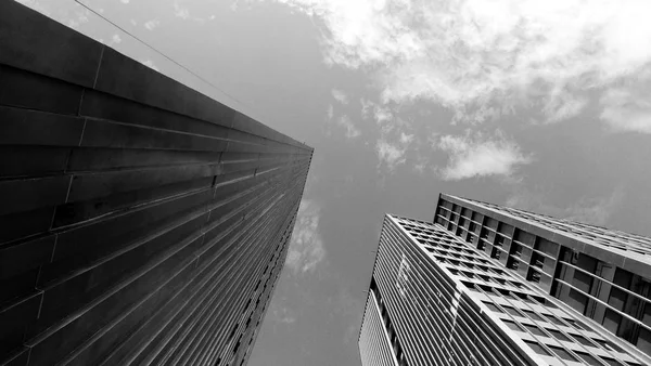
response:
<svg viewBox="0 0 651 366"><path fill-rule="evenodd" d="M240 365L312 149L0 2L0 365Z"/></svg>

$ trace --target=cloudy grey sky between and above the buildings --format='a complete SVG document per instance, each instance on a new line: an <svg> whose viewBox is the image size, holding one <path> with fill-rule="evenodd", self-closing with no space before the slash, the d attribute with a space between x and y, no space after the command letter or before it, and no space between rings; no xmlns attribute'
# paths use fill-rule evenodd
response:
<svg viewBox="0 0 651 366"><path fill-rule="evenodd" d="M651 236L649 1L20 2L315 147L251 366L359 365L383 215L441 192Z"/></svg>

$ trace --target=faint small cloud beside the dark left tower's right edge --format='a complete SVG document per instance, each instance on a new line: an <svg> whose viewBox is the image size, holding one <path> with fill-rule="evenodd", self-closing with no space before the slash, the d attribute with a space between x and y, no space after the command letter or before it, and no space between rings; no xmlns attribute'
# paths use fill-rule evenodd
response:
<svg viewBox="0 0 651 366"><path fill-rule="evenodd" d="M323 240L319 234L320 207L309 199L301 200L296 224L285 260L294 275L315 272L326 259Z"/></svg>

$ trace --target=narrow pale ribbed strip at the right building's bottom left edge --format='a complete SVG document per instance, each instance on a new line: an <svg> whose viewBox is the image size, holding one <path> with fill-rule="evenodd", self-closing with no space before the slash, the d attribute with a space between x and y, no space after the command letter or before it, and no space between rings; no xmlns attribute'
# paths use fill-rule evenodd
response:
<svg viewBox="0 0 651 366"><path fill-rule="evenodd" d="M362 366L396 366L386 329L382 325L380 309L372 293L367 298L363 311L359 335L359 354Z"/></svg>

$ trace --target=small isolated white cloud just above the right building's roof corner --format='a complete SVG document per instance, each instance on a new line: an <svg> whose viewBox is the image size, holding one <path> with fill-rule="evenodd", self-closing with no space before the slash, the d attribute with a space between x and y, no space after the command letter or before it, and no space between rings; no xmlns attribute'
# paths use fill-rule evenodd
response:
<svg viewBox="0 0 651 366"><path fill-rule="evenodd" d="M438 141L438 148L449 154L448 165L441 171L441 177L449 181L488 175L511 177L518 166L532 161L501 133L489 139L481 134L444 135Z"/></svg>

